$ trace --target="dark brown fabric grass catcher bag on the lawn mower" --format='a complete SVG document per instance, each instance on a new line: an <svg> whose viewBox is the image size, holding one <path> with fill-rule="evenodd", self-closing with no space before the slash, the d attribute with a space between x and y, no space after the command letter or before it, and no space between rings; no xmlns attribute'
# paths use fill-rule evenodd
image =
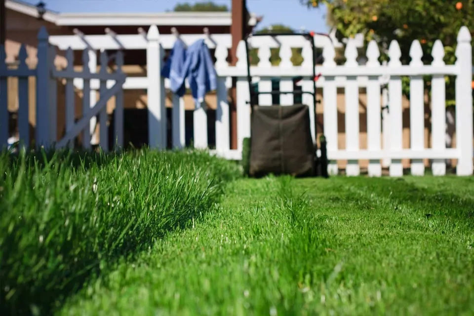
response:
<svg viewBox="0 0 474 316"><path fill-rule="evenodd" d="M250 176L315 174L308 106L254 106L250 124Z"/></svg>

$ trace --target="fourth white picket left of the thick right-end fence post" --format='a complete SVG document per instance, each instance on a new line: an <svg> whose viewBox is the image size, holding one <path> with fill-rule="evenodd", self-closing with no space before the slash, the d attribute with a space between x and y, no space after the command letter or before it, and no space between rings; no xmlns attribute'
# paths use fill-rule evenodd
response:
<svg viewBox="0 0 474 316"><path fill-rule="evenodd" d="M380 68L380 51L375 40L371 40L367 47L366 67ZM367 83L367 150L380 152L380 82L376 76L369 76ZM380 159L370 159L368 166L370 177L380 177L382 166Z"/></svg>

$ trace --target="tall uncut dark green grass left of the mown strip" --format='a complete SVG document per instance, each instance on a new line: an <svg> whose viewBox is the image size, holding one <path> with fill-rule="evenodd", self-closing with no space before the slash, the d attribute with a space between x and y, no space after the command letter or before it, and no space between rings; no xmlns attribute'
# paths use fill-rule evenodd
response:
<svg viewBox="0 0 474 316"><path fill-rule="evenodd" d="M214 207L236 164L203 152L0 154L1 315L50 314Z"/></svg>

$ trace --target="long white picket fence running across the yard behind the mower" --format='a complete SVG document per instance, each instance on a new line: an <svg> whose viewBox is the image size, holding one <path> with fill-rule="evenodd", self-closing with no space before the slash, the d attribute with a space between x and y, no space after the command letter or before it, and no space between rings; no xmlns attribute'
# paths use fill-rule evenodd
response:
<svg viewBox="0 0 474 316"><path fill-rule="evenodd" d="M191 44L195 40L202 38L201 35L182 36L182 39ZM23 74L20 69L17 73L7 73L1 68L0 78L8 76L25 77L35 74L37 78L48 78L46 81L38 80L38 99L50 100L52 78L65 77L69 81L70 87L84 90L86 95L89 89L102 89L108 87L118 87L111 90L112 94L120 95L120 85L123 89L147 89L148 110L149 110L149 142L152 148L164 149L166 147L166 119L165 119L165 87L169 86L168 80L160 77L162 67L162 58L164 49L172 47L176 38L172 35L159 35L158 28L152 26L148 34L137 35L115 35L109 32L107 35L85 36L80 33L69 37L49 37L49 42L58 46L60 49L80 49L84 50L85 56L95 56L95 50L104 49L146 49L147 50L147 77L137 78L128 77L119 71L115 74L93 74L90 71L87 75L75 74L72 76L71 70L62 73L48 72L51 69L50 62L47 60L46 50L41 50L41 39L39 37L40 63L35 71L29 71ZM228 159L241 158L242 140L250 136L250 106L249 90L246 81L246 50L244 42L240 42L237 47L238 62L235 67L227 63L228 48L231 47L231 41L228 36L219 39L218 35L208 36L206 43L210 48L215 48L216 72L218 74L217 86L217 114L215 122L216 130L216 149L214 154ZM442 43L438 40L433 48L434 61L431 65L423 65L421 62L422 49L418 41L414 41L410 50L412 61L409 65L400 63L400 48L396 41L393 41L389 48L390 62L387 65L380 65L378 57L380 52L375 42L370 42L366 52L368 59L366 65L359 65L356 61L357 49L353 41L349 41L346 46L345 57L346 64L338 66L334 62L335 50L329 41L324 38L315 40L318 47L323 48L324 63L317 67L317 73L321 73L317 86L323 90L323 124L324 135L327 140L327 154L330 159L330 174L337 173L337 160L348 160L346 173L348 175L358 175L360 173L358 160L369 159L368 172L371 176L381 176L381 159L389 159L391 176L401 176L403 174L401 159L411 159L411 173L423 175L425 166L422 159L433 159L433 173L443 175L446 172L445 159L457 159L457 174L473 174L473 100L472 100L472 46L471 36L467 28L463 27L458 35L458 44L456 50L457 62L455 65L445 65L443 62L444 49ZM44 39L42 45L45 45ZM299 36L285 37L259 37L250 40L251 47L258 48L259 64L251 66L251 75L256 78L260 91L270 91L272 88L271 78L280 77L280 90L291 91L293 89L293 77L303 76L302 90L312 91L312 51L310 43ZM278 66L272 66L269 62L270 49L280 48L281 62ZM301 47L304 62L301 66L293 66L290 61L292 47ZM105 58L105 57L104 57ZM120 58L118 58L120 59ZM3 59L2 59L3 60ZM105 60L105 59L104 59ZM43 61L43 62L41 62ZM93 60L87 61L90 69L95 69ZM118 60L117 64L120 64ZM42 65L42 66L41 66ZM2 66L3 67L3 66ZM119 67L118 67L119 69ZM42 72L41 72L42 70ZM26 71L26 70L25 70ZM68 73L69 72L69 73ZM46 76L46 73L47 76ZM51 75L52 74L52 75ZM424 141L424 91L423 76L432 76L432 148L425 148ZM385 139L384 148L381 146L381 83L382 78L388 76L389 81L389 108L390 113L386 120L388 121L387 133L389 136ZM402 92L401 76L409 76L410 81L410 148L402 148ZM445 146L445 80L444 76L456 77L456 148L446 148ZM237 77L237 150L230 149L229 135L229 104L227 99L227 88L230 79ZM107 81L106 81L107 80ZM43 82L43 83L40 83ZM4 86L1 81L0 96L4 98ZM123 83L123 85L122 85ZM42 85L41 85L42 84ZM90 84L90 85L89 85ZM338 126L337 126L337 88L345 88L346 96L346 149L339 149L337 144ZM367 91L367 149L360 149L359 146L359 111L358 111L358 91L360 87L365 87ZM41 90L42 88L42 90ZM90 92L90 91L89 91ZM122 107L122 98L118 97L118 108ZM3 99L1 99L3 100ZM102 93L101 93L101 101ZM89 119L94 114L104 111L104 104L99 101L93 110L88 110L87 115L75 126L70 128L70 136L80 132L82 128L86 133L86 127ZM91 106L90 100L85 98L84 111ZM105 101L106 102L106 101ZM51 102L50 102L51 103ZM52 102L54 104L54 102ZM281 95L281 105L291 105L293 103L292 95ZM303 103L314 107L311 96L304 95ZM2 104L5 104L2 102ZM54 120L54 107L47 102L38 102L41 110L47 110L39 113L38 124L41 135L49 135L47 124L44 122ZM271 105L272 99L269 95L260 95L259 104L262 106ZM96 109L97 106L100 109ZM69 106L69 105L68 105ZM2 110L3 107L2 107ZM121 112L121 111L116 111ZM312 121L314 121L314 112ZM120 116L120 114L118 114ZM0 116L3 118L4 116ZM23 114L24 117L24 114ZM105 115L103 116L105 119ZM121 121L118 117L116 121ZM137 122L140 124L140 122ZM177 97L173 98L172 109L172 139L173 147L182 148L185 146L185 122L184 122L184 101ZM101 126L103 126L101 124ZM117 134L120 133L120 126L116 124ZM314 124L312 124L314 126ZM3 133L4 128L2 129ZM0 133L0 140L4 142L4 134ZM312 130L315 138L315 131ZM46 144L50 138L46 136L37 138L40 143ZM387 136L387 135L385 135ZM121 136L120 136L121 137ZM106 148L106 137L102 135L101 146ZM70 138L68 138L69 140ZM194 112L194 145L197 148L206 148L207 142L207 115L204 107L200 107ZM388 145L387 145L388 142ZM63 142L64 143L64 142ZM63 144L61 143L61 144ZM121 143L119 142L119 145ZM387 146L385 146L387 145Z"/></svg>

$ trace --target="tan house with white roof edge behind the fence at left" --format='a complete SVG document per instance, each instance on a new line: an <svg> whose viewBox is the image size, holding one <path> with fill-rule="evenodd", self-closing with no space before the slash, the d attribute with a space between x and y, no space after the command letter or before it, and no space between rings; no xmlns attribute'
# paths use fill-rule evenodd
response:
<svg viewBox="0 0 474 316"><path fill-rule="evenodd" d="M230 34L232 26L231 12L160 12L160 13L60 13L45 10L39 13L38 7L19 0L6 0L6 41L5 51L7 62L14 67L21 44L25 44L28 52L28 65L36 67L36 45L37 35L41 26L45 26L50 35L73 35L75 30L79 30L85 35L105 34L105 29L112 29L116 34L137 34L141 28L148 31L150 25L157 25L160 34L171 34L171 28L176 28L181 34L202 34L207 28L210 34ZM255 14L248 15L248 27L254 28L261 20ZM81 68L80 51L75 52L75 66ZM113 52L108 52L113 53ZM128 50L124 53L123 71L128 76L146 76L146 51ZM65 67L64 58L58 56L57 67ZM36 125L36 105L35 105L35 84L34 78L30 81L30 108L29 117L32 126L32 133ZM15 113L18 109L18 93L15 90L17 79L9 79L9 99L8 109ZM64 89L61 89L61 82L58 87L58 131L64 130ZM12 91L13 90L13 91ZM77 91L76 117L81 115L80 91ZM138 117L146 116L146 91L125 90L125 109L130 113L135 113ZM167 107L171 107L171 95L168 96ZM216 107L216 97L212 93L207 95L206 103L211 110L209 115L212 121L213 109ZM108 105L108 112L113 111L113 101ZM194 101L191 96L185 96L185 108L187 118L192 122L192 109ZM135 110L133 110L135 109ZM140 111L141 110L141 111ZM146 121L146 119L145 119ZM144 126L142 126L144 127ZM210 126L212 128L212 126ZM189 128L192 130L192 126ZM146 134L146 133L145 133ZM209 133L213 135L213 133ZM140 138L140 137L138 137ZM31 138L33 139L33 138ZM140 143L140 140L137 140ZM146 141L145 141L146 142ZM212 141L211 141L212 143Z"/></svg>

